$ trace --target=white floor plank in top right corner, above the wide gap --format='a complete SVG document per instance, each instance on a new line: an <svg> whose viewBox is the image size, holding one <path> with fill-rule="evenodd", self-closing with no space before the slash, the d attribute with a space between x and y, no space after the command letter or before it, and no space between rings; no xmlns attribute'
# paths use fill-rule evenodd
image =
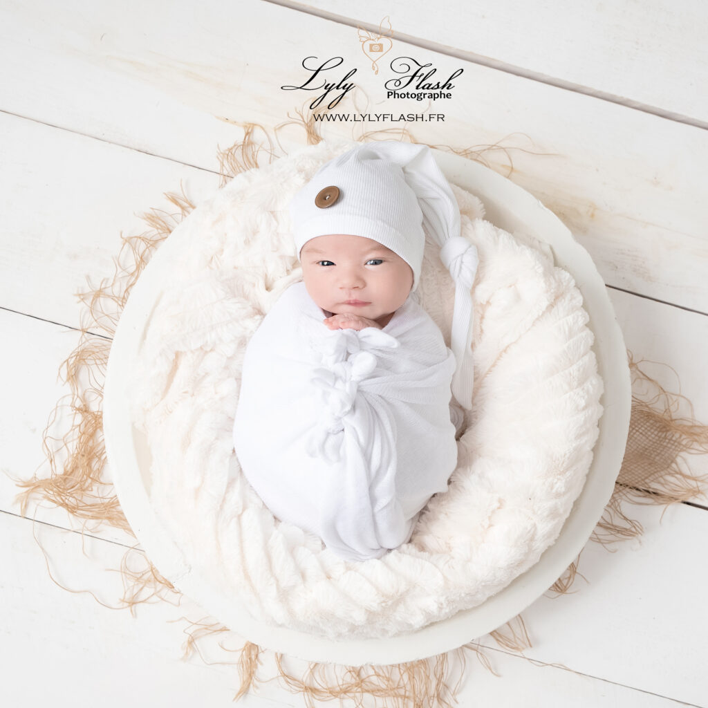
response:
<svg viewBox="0 0 708 708"><path fill-rule="evenodd" d="M700 0L495 3L424 0L299 0L375 28L389 16L394 37L469 52L512 73L708 122L708 12Z"/></svg>

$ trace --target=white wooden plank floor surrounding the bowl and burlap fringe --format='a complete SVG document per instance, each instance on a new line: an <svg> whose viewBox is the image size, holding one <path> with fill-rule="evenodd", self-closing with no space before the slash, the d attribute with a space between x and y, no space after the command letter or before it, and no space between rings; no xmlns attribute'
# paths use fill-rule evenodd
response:
<svg viewBox="0 0 708 708"><path fill-rule="evenodd" d="M485 5L477 4L476 12L484 14ZM544 12L555 5L547 0ZM196 656L181 660L186 623L172 620L203 617L188 598L181 607L142 605L135 618L127 610L109 610L88 593L57 587L34 535L59 583L93 590L108 605L117 603L122 584L106 569L118 568L134 539L108 527L82 539L81 525L57 508L30 508L36 521L22 518L11 477L47 472L42 429L68 392L57 369L79 338L76 292L84 290L86 275L96 282L113 273L119 234L142 232L137 214L150 207L173 211L162 197L166 191L183 185L194 202L213 193L217 144L226 147L243 134L224 117L276 125L299 103L273 87L295 81L303 57L331 54L338 47L353 60L359 51L358 43L351 50L341 48L350 42L352 28L312 16L305 6L248 0L226 7L207 1L196 10L183 1L171 13L144 3L128 6L118 11L73 0L58 11L48 2L19 6L0 0L5 69L0 78L0 470L5 473L0 475L0 698L7 706L232 703L239 685L234 666L207 665ZM352 17L353 7L346 17ZM342 8L333 4L333 11L345 15ZM463 4L451 2L444 9L462 12ZM391 11L395 28L399 0ZM695 16L697 28L708 16L688 1L680 11ZM374 12L373 4L362 4L358 19L371 23ZM615 16L607 12L601 19L611 25ZM622 16L621 10L615 12ZM446 36L445 23L436 21L426 35L420 13L416 9L405 22L411 37L474 53L452 25ZM491 42L503 38L506 27L490 17ZM265 26L268 33L258 31ZM676 45L680 33L671 35L678 37L673 47L656 50L648 40L651 31L639 23L632 38L656 66L663 66L661 52L673 62L690 61L693 50ZM657 77L663 86L644 76L627 84L632 73L615 77L616 66L606 55L591 66L573 64L574 73L564 73L569 47L559 42L542 66L530 62L527 68L559 80L586 81L586 93L617 93L624 81L624 95L691 114L692 125L642 115L621 103L608 106L602 98L469 61L465 71L474 76L476 88L450 104L448 125L426 124L413 132L418 139L462 147L518 130L530 135L537 152L560 148L550 163L520 155L512 178L561 213L608 285L617 286L609 287L610 297L635 358L661 362L644 367L670 390L680 383L697 418L708 421L703 104L700 97L691 101L667 87L674 78L670 66ZM500 59L533 55L531 42L514 49L513 56ZM460 63L455 55L428 51L426 56L441 65ZM704 57L700 52L695 57L691 75L704 80ZM622 56L614 59L622 64ZM545 125L549 105L561 120ZM568 115L572 121L564 118ZM564 127L564 122L573 125ZM328 130L346 135L341 126ZM287 139L302 142L302 135L289 132ZM60 420L58 428L66 424ZM690 460L695 474L708 472L707 457ZM501 677L470 655L460 704L708 708L708 570L701 561L708 505L702 504L676 505L663 517L661 509L633 506L629 515L645 528L640 539L617 544L614 554L588 544L580 564L588 582L578 578L573 595L544 596L524 612L533 643L526 656L538 665L501 651L489 636L481 638ZM227 638L228 646L241 641ZM264 674L273 675L268 673L272 657L264 661ZM550 666L557 663L571 670ZM292 662L292 668L297 674L302 663ZM304 702L270 682L242 704L299 707Z"/></svg>

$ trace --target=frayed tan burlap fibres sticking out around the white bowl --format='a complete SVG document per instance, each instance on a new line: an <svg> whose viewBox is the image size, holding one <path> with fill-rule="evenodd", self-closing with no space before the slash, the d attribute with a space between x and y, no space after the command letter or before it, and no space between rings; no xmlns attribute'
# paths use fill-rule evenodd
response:
<svg viewBox="0 0 708 708"><path fill-rule="evenodd" d="M222 184L241 171L262 166L264 160L272 161L278 156L278 150L284 154L278 135L285 127L296 125L302 128L308 144L320 142L320 124L314 120L314 114L304 110L296 110L295 113L295 116L288 116L290 120L276 126L272 134L262 126L246 124L243 126L244 139L240 143L228 149L219 149ZM257 135L262 135L261 139ZM407 142L417 142L406 128L365 132L358 139L392 139L394 136ZM442 145L430 147L447 149L487 166L486 157L502 151L508 159L509 171L513 171L512 150L530 152L519 147L504 147L503 141L464 149ZM143 219L150 230L139 236L122 239L119 256L114 259L113 278L103 280L101 285L79 296L86 304L89 324L82 324L79 345L60 367L62 380L69 384L71 393L57 403L42 436L50 476L40 478L35 474L29 481L18 481L18 485L25 488L18 495L23 515L30 498L38 496L67 509L76 518L83 520L84 527L89 522L98 525L107 523L132 534L120 510L113 486L103 476L106 464L101 417L103 378L110 340L132 285L137 282L161 241L193 209L183 193L169 194L166 198L176 207L177 212L169 214L151 210L144 215ZM657 393L649 399L646 396L632 396L627 452L615 484L615 493L591 537L593 541L605 546L635 537L643 530L639 522L624 513L624 502L666 505L695 499L702 494L701 485L705 481L704 477L692 476L687 471L685 455L708 452L708 427L692 418L692 410L690 418L678 417L677 401L687 399L666 392L641 369L641 361L634 362L632 353L628 352L628 356L633 389L641 384L644 388L654 387ZM53 438L50 430L55 426L59 411L63 409L71 413L72 424L62 438ZM67 455L63 464L59 464L60 453ZM128 562L131 554L142 558L138 569L135 569L135 561L133 566ZM578 572L579 560L580 555L549 588L549 593L555 593L556 596L569 593L576 577L579 575L584 578ZM135 613L135 606L141 603L166 600L178 604L181 599L178 590L136 549L129 549L118 572L122 574L125 593L119 606L114 609L128 607ZM192 622L185 617L181 619L189 624L185 629L188 639L183 646L183 658L196 652L206 661L200 651L200 643L207 637L229 633L227 627L217 621L200 619ZM520 653L521 656L525 649L532 646L521 615L491 632L490 636L502 650ZM207 663L229 663L238 668L240 687L234 700L239 700L263 680L258 675L262 668L263 650L249 641L240 649L227 649L221 643L219 647L223 651L238 654L238 657L235 661ZM346 699L356 706L366 704L370 707L373 700L375 704L387 708L426 708L448 707L456 702L455 696L465 674L466 652L469 651L476 654L481 666L498 675L483 647L477 642L470 642L438 656L391 666L349 667L309 663L307 670L299 676L294 675L292 668L288 668L286 657L276 654L274 658L281 682L292 692L302 695L307 706L314 706L315 701ZM530 658L527 660L538 666L567 669L561 664L548 665ZM456 681L453 680L455 673L459 674Z"/></svg>

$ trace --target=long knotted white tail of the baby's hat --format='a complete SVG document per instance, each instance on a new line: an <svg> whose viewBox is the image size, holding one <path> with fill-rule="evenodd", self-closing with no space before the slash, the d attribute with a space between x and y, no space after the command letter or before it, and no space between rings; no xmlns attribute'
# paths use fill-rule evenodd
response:
<svg viewBox="0 0 708 708"><path fill-rule="evenodd" d="M460 235L459 207L450 184L427 145L372 142L361 146L382 159L399 164L423 212L426 234L440 246L440 260L455 282L450 348L455 355L452 394L464 409L472 408L472 285L479 257L474 244Z"/></svg>

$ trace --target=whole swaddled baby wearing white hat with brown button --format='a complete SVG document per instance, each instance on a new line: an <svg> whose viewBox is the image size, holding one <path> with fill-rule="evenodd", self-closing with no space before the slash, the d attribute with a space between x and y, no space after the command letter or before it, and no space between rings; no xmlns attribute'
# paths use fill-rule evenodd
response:
<svg viewBox="0 0 708 708"><path fill-rule="evenodd" d="M421 145L358 145L290 212L303 282L246 348L236 455L275 517L343 558L379 558L409 540L457 466L451 406L472 403L476 249ZM455 280L452 350L414 295L426 232Z"/></svg>

